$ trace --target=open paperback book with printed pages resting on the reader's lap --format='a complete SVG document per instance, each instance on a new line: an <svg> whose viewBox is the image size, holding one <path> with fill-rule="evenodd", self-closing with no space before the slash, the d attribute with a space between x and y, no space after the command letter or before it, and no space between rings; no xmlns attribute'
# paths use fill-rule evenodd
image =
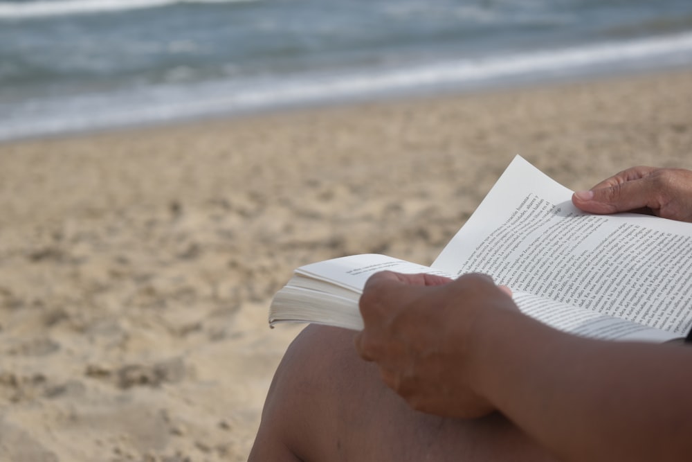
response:
<svg viewBox="0 0 692 462"><path fill-rule="evenodd" d="M432 265L364 254L295 270L269 323L354 330L365 281L384 269L489 274L525 314L576 335L668 341L692 326L692 224L635 213L590 215L572 191L516 157Z"/></svg>

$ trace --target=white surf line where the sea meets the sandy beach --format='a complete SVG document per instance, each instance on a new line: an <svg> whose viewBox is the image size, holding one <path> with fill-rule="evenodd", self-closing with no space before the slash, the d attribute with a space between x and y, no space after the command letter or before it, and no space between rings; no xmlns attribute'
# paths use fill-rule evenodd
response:
<svg viewBox="0 0 692 462"><path fill-rule="evenodd" d="M172 93L163 99L161 95L156 96L156 88L152 87L121 90L120 94L82 94L66 100L37 100L28 114L24 114L26 108L21 105L8 106L10 114L15 112L16 120L10 118L0 123L0 145L354 103L516 91L604 78L675 73L692 69L691 50L692 33L680 30L629 41L613 40L561 49L547 47L525 54L447 58L343 75L317 73L292 80L277 79L264 85L255 85L251 80L197 82L190 87L172 87L169 89ZM196 94L197 99L181 96L190 93ZM107 100L111 100L111 104L107 104ZM116 101L125 103L113 104ZM17 125L17 120L22 118L24 122Z"/></svg>

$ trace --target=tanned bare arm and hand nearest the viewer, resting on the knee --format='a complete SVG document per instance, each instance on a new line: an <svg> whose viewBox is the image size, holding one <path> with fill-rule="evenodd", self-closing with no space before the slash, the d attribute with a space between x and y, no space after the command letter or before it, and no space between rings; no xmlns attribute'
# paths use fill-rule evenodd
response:
<svg viewBox="0 0 692 462"><path fill-rule="evenodd" d="M569 461L692 454L692 348L594 341L543 326L487 278L372 276L356 348L412 407L502 411Z"/></svg>

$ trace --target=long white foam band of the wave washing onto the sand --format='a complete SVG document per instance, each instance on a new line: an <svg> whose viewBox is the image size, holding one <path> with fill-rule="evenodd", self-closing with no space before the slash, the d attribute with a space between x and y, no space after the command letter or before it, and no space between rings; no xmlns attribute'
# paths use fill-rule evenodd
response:
<svg viewBox="0 0 692 462"><path fill-rule="evenodd" d="M84 94L71 100L45 100L23 107L0 105L0 140L354 100L417 89L463 89L493 82L502 85L522 79L569 77L597 69L617 71L671 65L692 66L692 33L347 75L304 75L292 80L264 81L255 78L206 82L194 87L167 85L119 94ZM3 113L8 118L3 118Z"/></svg>

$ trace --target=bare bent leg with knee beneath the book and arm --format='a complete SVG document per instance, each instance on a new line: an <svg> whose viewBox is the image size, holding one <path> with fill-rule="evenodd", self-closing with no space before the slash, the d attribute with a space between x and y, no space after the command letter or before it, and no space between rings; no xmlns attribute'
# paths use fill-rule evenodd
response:
<svg viewBox="0 0 692 462"><path fill-rule="evenodd" d="M499 414L455 420L413 411L356 355L353 336L308 326L293 341L251 462L553 460Z"/></svg>

